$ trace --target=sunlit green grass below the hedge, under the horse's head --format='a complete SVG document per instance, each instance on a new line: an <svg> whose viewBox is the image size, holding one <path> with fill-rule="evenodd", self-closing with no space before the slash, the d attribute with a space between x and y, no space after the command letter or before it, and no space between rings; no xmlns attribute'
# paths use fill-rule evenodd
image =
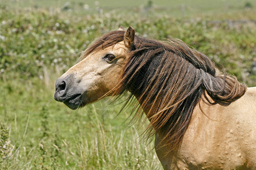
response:
<svg viewBox="0 0 256 170"><path fill-rule="evenodd" d="M9 94L1 114L7 122L1 124L1 169L160 169L152 143L141 142L136 124L127 128L129 113L116 117L121 106L106 109L104 100L72 112L53 101L52 90L38 91L43 80L31 84L23 95L16 93L24 88L18 81L0 87Z"/></svg>

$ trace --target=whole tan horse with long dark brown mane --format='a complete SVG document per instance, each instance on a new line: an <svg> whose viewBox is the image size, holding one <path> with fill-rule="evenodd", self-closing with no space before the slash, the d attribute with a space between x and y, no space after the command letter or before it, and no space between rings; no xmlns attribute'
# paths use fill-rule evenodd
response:
<svg viewBox="0 0 256 170"><path fill-rule="evenodd" d="M120 27L96 39L55 83L71 109L129 92L164 169L256 169L256 87L222 73L183 41Z"/></svg>

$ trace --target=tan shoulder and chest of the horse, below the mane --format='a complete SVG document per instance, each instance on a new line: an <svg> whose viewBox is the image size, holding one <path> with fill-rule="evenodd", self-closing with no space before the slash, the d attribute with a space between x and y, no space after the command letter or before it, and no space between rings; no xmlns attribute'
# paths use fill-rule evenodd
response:
<svg viewBox="0 0 256 170"><path fill-rule="evenodd" d="M201 107L206 115L195 108L179 150L156 150L164 169L256 169L256 87L227 107Z"/></svg>

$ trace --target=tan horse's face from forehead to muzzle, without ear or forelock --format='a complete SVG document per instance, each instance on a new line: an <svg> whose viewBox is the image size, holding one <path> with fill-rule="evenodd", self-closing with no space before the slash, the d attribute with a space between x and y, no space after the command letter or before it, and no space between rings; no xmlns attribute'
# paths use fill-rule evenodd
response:
<svg viewBox="0 0 256 170"><path fill-rule="evenodd" d="M55 100L76 109L104 96L118 83L126 51L122 41L86 56L56 80Z"/></svg>

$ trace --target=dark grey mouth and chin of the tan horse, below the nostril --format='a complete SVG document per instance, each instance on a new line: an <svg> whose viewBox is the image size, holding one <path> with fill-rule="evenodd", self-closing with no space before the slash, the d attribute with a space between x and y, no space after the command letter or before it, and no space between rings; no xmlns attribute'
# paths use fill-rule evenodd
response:
<svg viewBox="0 0 256 170"><path fill-rule="evenodd" d="M67 105L67 107L75 110L75 109L79 108L79 106L81 104L81 96L82 96L81 94L65 96L63 103L65 105Z"/></svg>

